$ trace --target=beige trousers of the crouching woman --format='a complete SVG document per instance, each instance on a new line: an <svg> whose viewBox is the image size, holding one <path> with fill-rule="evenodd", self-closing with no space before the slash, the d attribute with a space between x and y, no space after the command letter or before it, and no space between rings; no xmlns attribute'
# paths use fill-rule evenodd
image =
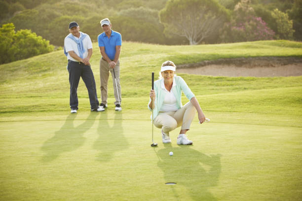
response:
<svg viewBox="0 0 302 201"><path fill-rule="evenodd" d="M169 134L177 127L182 126L182 130L189 130L196 113L195 107L188 102L175 112L159 112L153 123L157 128L161 128L165 134Z"/></svg>

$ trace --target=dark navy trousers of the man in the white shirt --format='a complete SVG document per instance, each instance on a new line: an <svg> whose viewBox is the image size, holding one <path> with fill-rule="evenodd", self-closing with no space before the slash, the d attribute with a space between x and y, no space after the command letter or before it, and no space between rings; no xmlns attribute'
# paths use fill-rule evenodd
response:
<svg viewBox="0 0 302 201"><path fill-rule="evenodd" d="M84 81L88 90L91 109L97 108L99 106L99 100L95 88L95 80L91 67L86 66L83 63L68 60L67 69L69 72L70 83L70 108L76 110L78 109L77 86L80 77L82 77L82 80Z"/></svg>

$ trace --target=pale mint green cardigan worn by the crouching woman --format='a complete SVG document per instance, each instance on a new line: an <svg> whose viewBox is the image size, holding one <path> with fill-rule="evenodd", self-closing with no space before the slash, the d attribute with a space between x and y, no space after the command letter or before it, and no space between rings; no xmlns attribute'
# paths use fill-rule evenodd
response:
<svg viewBox="0 0 302 201"><path fill-rule="evenodd" d="M182 91L184 92L184 94L187 96L189 100L195 97L195 95L191 92L187 83L182 77L175 75L174 78L175 78L176 86L173 86L172 89L173 89L173 94L176 98L177 107L179 109L183 106ZM153 119L155 119L155 117L158 115L158 112L165 99L165 93L161 88L161 80L162 79L159 79L154 82L155 100L154 100L154 109L153 109ZM151 98L148 103L148 109L152 111L152 109L149 107L150 102L151 102Z"/></svg>

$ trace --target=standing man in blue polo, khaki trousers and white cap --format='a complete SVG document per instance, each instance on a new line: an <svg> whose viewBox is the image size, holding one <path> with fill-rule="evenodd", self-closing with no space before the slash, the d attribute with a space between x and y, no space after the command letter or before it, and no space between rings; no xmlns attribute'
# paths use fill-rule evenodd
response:
<svg viewBox="0 0 302 201"><path fill-rule="evenodd" d="M103 33L98 36L102 58L100 60L101 98L100 107L107 107L109 71L113 78L115 110L121 110L121 88L119 83L119 55L121 50L121 34L114 32L108 18L101 20ZM115 74L115 77L113 76Z"/></svg>

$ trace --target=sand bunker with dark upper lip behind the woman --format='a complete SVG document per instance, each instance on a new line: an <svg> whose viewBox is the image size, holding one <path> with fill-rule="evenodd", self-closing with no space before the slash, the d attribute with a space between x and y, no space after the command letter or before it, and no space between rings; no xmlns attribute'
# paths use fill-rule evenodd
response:
<svg viewBox="0 0 302 201"><path fill-rule="evenodd" d="M237 58L177 66L177 72L213 76L276 77L302 75L302 58Z"/></svg>

